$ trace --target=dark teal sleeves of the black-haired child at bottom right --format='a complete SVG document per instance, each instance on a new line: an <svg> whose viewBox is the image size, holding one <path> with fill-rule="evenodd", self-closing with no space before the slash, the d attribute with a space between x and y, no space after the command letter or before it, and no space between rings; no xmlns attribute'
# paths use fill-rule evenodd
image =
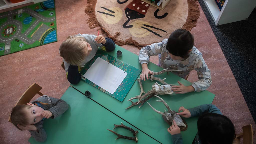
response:
<svg viewBox="0 0 256 144"><path fill-rule="evenodd" d="M220 110L215 105L212 105L212 104L205 104L205 105L201 105L198 107L190 108L188 110L191 114L191 117L197 117L204 113L216 113L216 114L222 115ZM174 144L182 144L183 143L181 133L172 135L172 138L173 138ZM192 144L201 144L198 134L196 134L195 140L193 141Z"/></svg>

